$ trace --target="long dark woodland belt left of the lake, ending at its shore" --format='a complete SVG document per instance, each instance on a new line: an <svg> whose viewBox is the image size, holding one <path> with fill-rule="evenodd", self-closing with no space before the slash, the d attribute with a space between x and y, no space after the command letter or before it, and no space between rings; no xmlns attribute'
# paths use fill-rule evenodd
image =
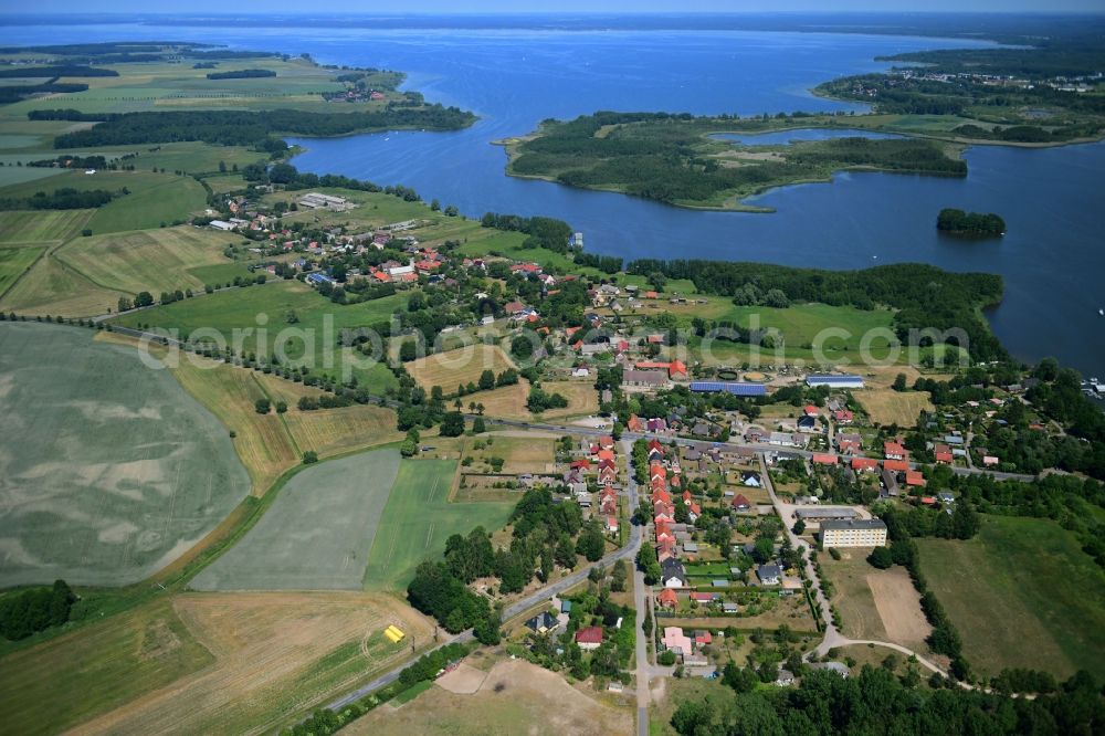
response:
<svg viewBox="0 0 1105 736"><path fill-rule="evenodd" d="M456 107L389 106L367 113L307 113L274 109L180 111L165 113L85 114L76 111L30 113L31 119L103 120L87 130L60 135L54 148L118 146L131 144L202 140L224 146L270 147L275 135L340 136L362 130L419 128L455 130L475 120L472 113Z"/></svg>

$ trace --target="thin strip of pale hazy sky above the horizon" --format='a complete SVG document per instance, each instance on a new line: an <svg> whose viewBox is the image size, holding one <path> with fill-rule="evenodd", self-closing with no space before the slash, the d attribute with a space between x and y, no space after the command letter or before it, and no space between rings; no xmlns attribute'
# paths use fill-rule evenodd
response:
<svg viewBox="0 0 1105 736"><path fill-rule="evenodd" d="M0 2L0 6L7 6ZM463 13L463 12L772 12L772 11L966 11L966 12L1062 12L1105 11L1102 0L326 0L304 3L291 0L38 0L0 7L0 12L277 12L277 13Z"/></svg>

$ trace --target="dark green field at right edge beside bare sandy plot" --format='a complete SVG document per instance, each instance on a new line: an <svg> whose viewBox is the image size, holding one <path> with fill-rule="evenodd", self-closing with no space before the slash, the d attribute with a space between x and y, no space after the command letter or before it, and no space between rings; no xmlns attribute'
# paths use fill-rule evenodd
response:
<svg viewBox="0 0 1105 736"><path fill-rule="evenodd" d="M976 674L1030 667L1105 676L1105 572L1055 522L986 516L969 542L917 543Z"/></svg>

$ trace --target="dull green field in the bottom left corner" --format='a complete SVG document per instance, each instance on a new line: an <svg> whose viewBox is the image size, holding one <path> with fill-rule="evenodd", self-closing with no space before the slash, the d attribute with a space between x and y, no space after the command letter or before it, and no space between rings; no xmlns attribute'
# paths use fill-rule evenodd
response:
<svg viewBox="0 0 1105 736"><path fill-rule="evenodd" d="M60 733L213 661L160 599L0 660L0 719L12 734Z"/></svg>

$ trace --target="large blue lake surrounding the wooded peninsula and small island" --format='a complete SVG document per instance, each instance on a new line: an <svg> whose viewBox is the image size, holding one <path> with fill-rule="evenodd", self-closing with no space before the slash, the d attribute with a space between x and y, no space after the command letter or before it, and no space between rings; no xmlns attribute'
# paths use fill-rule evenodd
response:
<svg viewBox="0 0 1105 736"><path fill-rule="evenodd" d="M741 115L862 111L809 90L885 69L878 55L980 45L961 40L745 31L520 31L8 27L6 43L187 39L309 52L323 63L409 72L407 87L475 111L455 133L387 133L294 143L301 169L414 187L476 215L548 214L586 234L587 248L625 259L704 257L854 269L920 261L999 273L1006 298L989 316L1018 356L1054 355L1105 372L1105 144L1051 149L975 147L969 175L944 179L844 174L831 185L767 192L775 214L680 210L621 194L504 175L493 140L547 117L597 109ZM781 134L781 141L794 132ZM762 140L762 138L760 138ZM937 234L944 207L1000 213L1008 234L959 241Z"/></svg>

